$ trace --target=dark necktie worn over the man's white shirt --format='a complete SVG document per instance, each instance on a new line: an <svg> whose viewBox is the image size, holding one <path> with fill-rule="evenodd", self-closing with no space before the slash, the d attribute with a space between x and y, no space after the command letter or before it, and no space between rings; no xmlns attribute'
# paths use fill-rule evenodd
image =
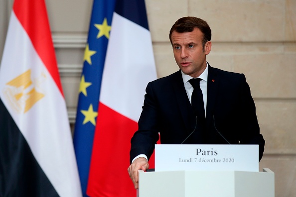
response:
<svg viewBox="0 0 296 197"><path fill-rule="evenodd" d="M202 79L200 78L194 78L189 80L189 83L193 87L193 92L191 96L191 105L198 119L204 122L205 121L204 104L203 104L202 92L199 87L199 82L201 80Z"/></svg>

